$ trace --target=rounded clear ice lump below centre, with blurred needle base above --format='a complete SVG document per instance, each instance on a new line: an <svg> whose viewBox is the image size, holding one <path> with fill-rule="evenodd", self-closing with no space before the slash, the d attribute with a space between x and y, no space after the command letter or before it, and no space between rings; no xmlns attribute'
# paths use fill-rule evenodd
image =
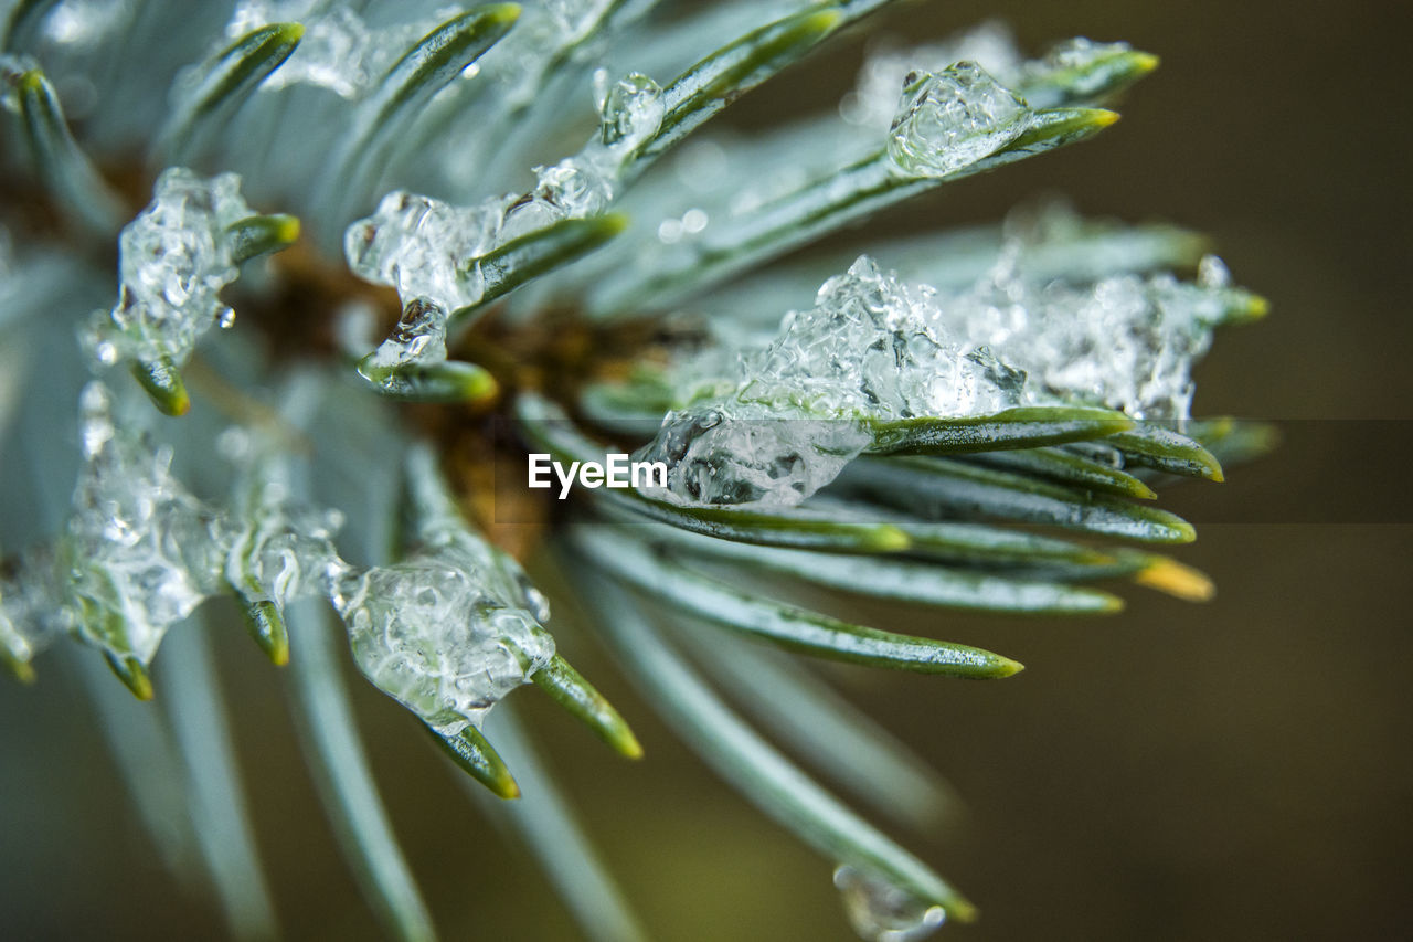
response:
<svg viewBox="0 0 1413 942"><path fill-rule="evenodd" d="M432 477L410 461L421 549L349 574L333 594L367 679L444 737L485 714L550 663L548 604L510 556L472 533Z"/></svg>

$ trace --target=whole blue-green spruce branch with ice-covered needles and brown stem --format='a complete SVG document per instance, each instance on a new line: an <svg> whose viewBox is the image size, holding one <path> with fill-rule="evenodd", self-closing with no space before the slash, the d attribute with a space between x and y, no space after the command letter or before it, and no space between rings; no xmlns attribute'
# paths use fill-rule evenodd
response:
<svg viewBox="0 0 1413 942"><path fill-rule="evenodd" d="M561 757L534 757L507 697L552 703L626 758L651 747L642 714L661 713L835 867L862 938L904 942L975 907L692 662L803 758L917 822L937 779L788 661L938 683L1022 666L855 624L834 594L1036 617L1112 615L1112 581L1212 595L1197 570L1123 545L1194 539L1159 492L1221 481L1273 443L1194 417L1194 366L1266 313L1205 239L1057 204L866 245L846 232L1091 141L1157 58L1082 37L1031 55L992 23L870 44L838 107L786 102L762 130L731 126L735 100L769 98L880 6L0 14L0 471L23 475L0 508L0 661L32 680L72 641L138 699L174 692L184 754L215 757L182 808L208 818L202 864L235 931L266 934L273 915L220 771L244 737L202 714L209 672L243 662L194 661L205 638L161 652L198 610L288 662L319 796L394 938L431 939L434 919L345 675L406 707L468 786L524 795L489 813L596 942L642 934L572 795L547 781ZM845 248L815 248L827 236ZM572 468L564 487L524 487L527 453ZM661 477L616 487L630 455ZM571 665L592 663L589 636L642 702L620 711L612 675ZM114 743L138 741L122 721ZM841 748L868 760L844 768ZM235 830L209 820L218 806Z"/></svg>

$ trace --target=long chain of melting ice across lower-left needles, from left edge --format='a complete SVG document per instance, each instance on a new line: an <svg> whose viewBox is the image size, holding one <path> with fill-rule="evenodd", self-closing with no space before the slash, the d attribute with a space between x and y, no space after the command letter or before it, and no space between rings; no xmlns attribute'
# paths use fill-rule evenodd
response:
<svg viewBox="0 0 1413 942"><path fill-rule="evenodd" d="M363 570L333 545L341 515L297 499L281 457L288 443L274 430L222 433L218 448L237 472L232 501L215 505L177 481L170 448L126 426L109 390L89 383L85 467L58 549L31 550L0 574L0 661L21 673L59 634L78 634L116 665L148 665L167 631L215 595L277 608L322 595L367 678L452 735L554 656L545 597L462 521L430 451L408 463L420 549Z"/></svg>

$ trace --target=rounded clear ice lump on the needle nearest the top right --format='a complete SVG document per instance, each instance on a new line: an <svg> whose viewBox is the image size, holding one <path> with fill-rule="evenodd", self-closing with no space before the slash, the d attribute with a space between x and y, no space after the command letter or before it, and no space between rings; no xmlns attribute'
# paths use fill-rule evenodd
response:
<svg viewBox="0 0 1413 942"><path fill-rule="evenodd" d="M903 173L945 177L1016 140L1030 107L975 62L909 81L887 153Z"/></svg>

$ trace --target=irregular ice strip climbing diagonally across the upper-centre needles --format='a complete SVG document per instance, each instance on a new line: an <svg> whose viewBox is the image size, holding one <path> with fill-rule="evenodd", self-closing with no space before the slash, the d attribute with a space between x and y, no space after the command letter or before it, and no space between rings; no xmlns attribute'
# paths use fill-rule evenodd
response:
<svg viewBox="0 0 1413 942"><path fill-rule="evenodd" d="M601 72L595 86L599 130L572 157L536 167L528 192L454 207L394 191L372 216L348 228L349 267L367 281L396 287L403 303L403 317L374 352L374 365L444 361L451 315L485 296L486 256L562 219L586 219L609 207L633 154L663 122L663 92L637 74L609 85Z"/></svg>

